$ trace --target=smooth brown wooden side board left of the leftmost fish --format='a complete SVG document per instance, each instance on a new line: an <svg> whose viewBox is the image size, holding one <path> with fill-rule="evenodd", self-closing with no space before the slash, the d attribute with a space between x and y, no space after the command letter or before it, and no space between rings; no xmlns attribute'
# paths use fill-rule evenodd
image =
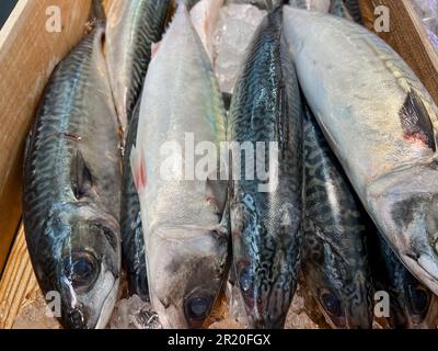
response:
<svg viewBox="0 0 438 351"><path fill-rule="evenodd" d="M62 30L46 31L46 9ZM0 272L21 217L24 140L47 79L84 31L91 0L20 0L0 32Z"/></svg>

